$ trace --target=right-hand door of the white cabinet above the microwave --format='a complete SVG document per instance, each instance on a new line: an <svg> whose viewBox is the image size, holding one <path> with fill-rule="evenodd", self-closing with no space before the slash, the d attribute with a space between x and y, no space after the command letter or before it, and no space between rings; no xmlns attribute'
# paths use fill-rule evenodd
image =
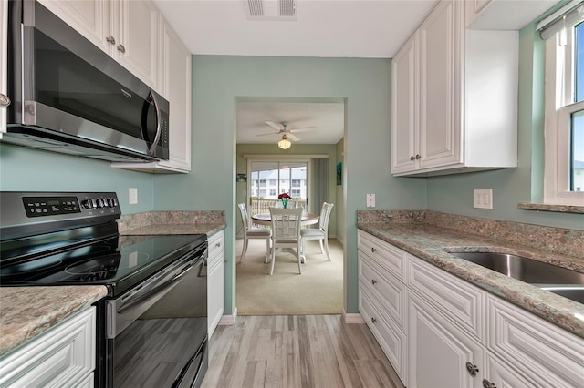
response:
<svg viewBox="0 0 584 388"><path fill-rule="evenodd" d="M113 23L119 15L114 56L134 76L158 88L158 10L149 1L116 1L112 7Z"/></svg>

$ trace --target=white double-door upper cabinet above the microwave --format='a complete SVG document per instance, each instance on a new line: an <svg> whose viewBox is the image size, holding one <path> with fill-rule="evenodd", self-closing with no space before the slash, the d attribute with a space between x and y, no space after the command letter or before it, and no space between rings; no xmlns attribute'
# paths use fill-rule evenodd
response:
<svg viewBox="0 0 584 388"><path fill-rule="evenodd" d="M158 84L157 8L147 0L40 0L42 5L154 89Z"/></svg>

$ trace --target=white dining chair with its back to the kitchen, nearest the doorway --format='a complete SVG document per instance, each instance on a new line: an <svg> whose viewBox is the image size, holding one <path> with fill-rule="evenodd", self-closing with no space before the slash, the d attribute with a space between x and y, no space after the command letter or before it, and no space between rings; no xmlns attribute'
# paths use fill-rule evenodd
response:
<svg viewBox="0 0 584 388"><path fill-rule="evenodd" d="M270 219L272 221L272 268L270 269L270 275L274 273L276 250L278 248L296 248L298 272L302 274L302 268L300 268L300 226L302 225L302 208L270 208Z"/></svg>

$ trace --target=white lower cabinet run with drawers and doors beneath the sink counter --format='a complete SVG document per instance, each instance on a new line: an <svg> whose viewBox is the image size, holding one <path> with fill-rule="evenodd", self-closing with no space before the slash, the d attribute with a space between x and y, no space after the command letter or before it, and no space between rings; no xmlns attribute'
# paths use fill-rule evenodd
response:
<svg viewBox="0 0 584 388"><path fill-rule="evenodd" d="M584 339L362 230L358 241L361 315L407 387L584 386ZM402 279L387 271L396 257Z"/></svg>

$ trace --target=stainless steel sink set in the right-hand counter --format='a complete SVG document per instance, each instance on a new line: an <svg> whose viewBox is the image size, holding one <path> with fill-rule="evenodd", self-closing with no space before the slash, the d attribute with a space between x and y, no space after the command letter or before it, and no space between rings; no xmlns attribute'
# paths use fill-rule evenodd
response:
<svg viewBox="0 0 584 388"><path fill-rule="evenodd" d="M490 270L584 303L584 273L506 253L450 252Z"/></svg>

